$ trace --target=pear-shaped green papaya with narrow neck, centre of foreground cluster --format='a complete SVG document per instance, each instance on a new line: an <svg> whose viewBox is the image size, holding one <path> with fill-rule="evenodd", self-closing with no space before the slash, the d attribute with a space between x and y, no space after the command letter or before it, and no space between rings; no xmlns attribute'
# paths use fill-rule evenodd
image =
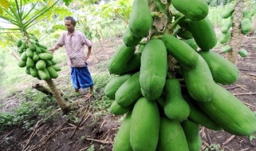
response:
<svg viewBox="0 0 256 151"><path fill-rule="evenodd" d="M186 120L189 115L189 106L181 95L181 84L179 84L178 79L166 80L165 95L164 111L166 116L179 122Z"/></svg>

